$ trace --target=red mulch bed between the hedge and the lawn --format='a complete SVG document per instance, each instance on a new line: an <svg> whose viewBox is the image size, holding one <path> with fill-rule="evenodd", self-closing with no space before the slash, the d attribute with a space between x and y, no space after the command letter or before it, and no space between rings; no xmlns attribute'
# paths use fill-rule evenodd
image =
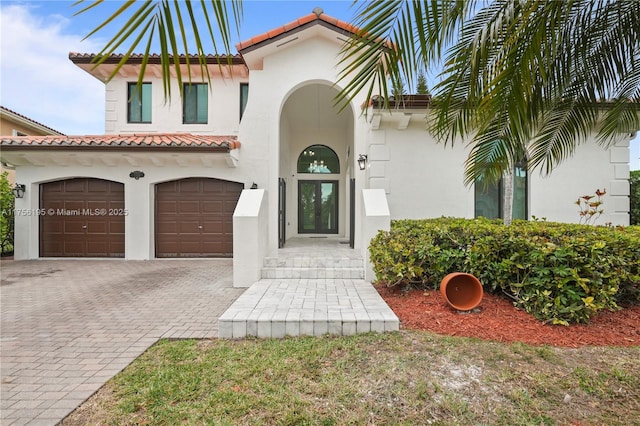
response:
<svg viewBox="0 0 640 426"><path fill-rule="evenodd" d="M459 313L447 304L439 291L403 293L383 285L376 288L405 329L573 348L640 345L640 306L616 312L603 311L589 324L562 326L544 324L533 315L516 309L507 299L492 294L484 294L475 312Z"/></svg>

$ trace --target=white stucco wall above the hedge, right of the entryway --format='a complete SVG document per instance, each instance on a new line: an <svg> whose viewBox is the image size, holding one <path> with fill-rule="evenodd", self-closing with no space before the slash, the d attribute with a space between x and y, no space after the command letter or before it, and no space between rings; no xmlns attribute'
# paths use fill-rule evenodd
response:
<svg viewBox="0 0 640 426"><path fill-rule="evenodd" d="M436 143L423 119L412 118L399 130L389 120L368 135L367 184L387 192L392 219L440 216L474 217L473 187L465 187L464 143ZM629 142L605 149L592 137L549 176L529 173L529 218L578 223L574 202L606 189L604 213L597 224L629 224Z"/></svg>

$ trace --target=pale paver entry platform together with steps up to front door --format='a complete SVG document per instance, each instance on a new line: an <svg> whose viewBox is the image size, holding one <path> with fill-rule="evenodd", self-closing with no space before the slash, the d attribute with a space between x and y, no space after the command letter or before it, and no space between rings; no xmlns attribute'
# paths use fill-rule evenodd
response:
<svg viewBox="0 0 640 426"><path fill-rule="evenodd" d="M364 280L359 251L339 240L288 240L263 262L253 283L220 317L218 335L352 335L395 331L398 317Z"/></svg>

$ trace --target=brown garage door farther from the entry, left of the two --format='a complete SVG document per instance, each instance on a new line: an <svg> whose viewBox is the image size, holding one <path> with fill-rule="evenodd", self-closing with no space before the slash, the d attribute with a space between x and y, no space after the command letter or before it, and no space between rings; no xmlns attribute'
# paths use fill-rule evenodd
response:
<svg viewBox="0 0 640 426"><path fill-rule="evenodd" d="M124 257L124 185L77 178L40 185L40 256Z"/></svg>

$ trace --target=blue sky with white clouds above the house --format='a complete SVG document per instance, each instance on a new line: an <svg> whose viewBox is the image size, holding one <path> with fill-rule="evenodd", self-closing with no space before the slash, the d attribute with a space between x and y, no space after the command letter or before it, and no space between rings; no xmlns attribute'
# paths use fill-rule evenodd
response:
<svg viewBox="0 0 640 426"><path fill-rule="evenodd" d="M68 55L99 52L115 24L83 38L122 1L108 0L79 16L73 16L80 10L74 2L0 0L0 104L68 135L103 134L104 85L76 67ZM244 0L240 35L232 45L291 22L315 7L347 22L356 12L350 0ZM640 170L639 157L637 136L631 142L631 170Z"/></svg>

